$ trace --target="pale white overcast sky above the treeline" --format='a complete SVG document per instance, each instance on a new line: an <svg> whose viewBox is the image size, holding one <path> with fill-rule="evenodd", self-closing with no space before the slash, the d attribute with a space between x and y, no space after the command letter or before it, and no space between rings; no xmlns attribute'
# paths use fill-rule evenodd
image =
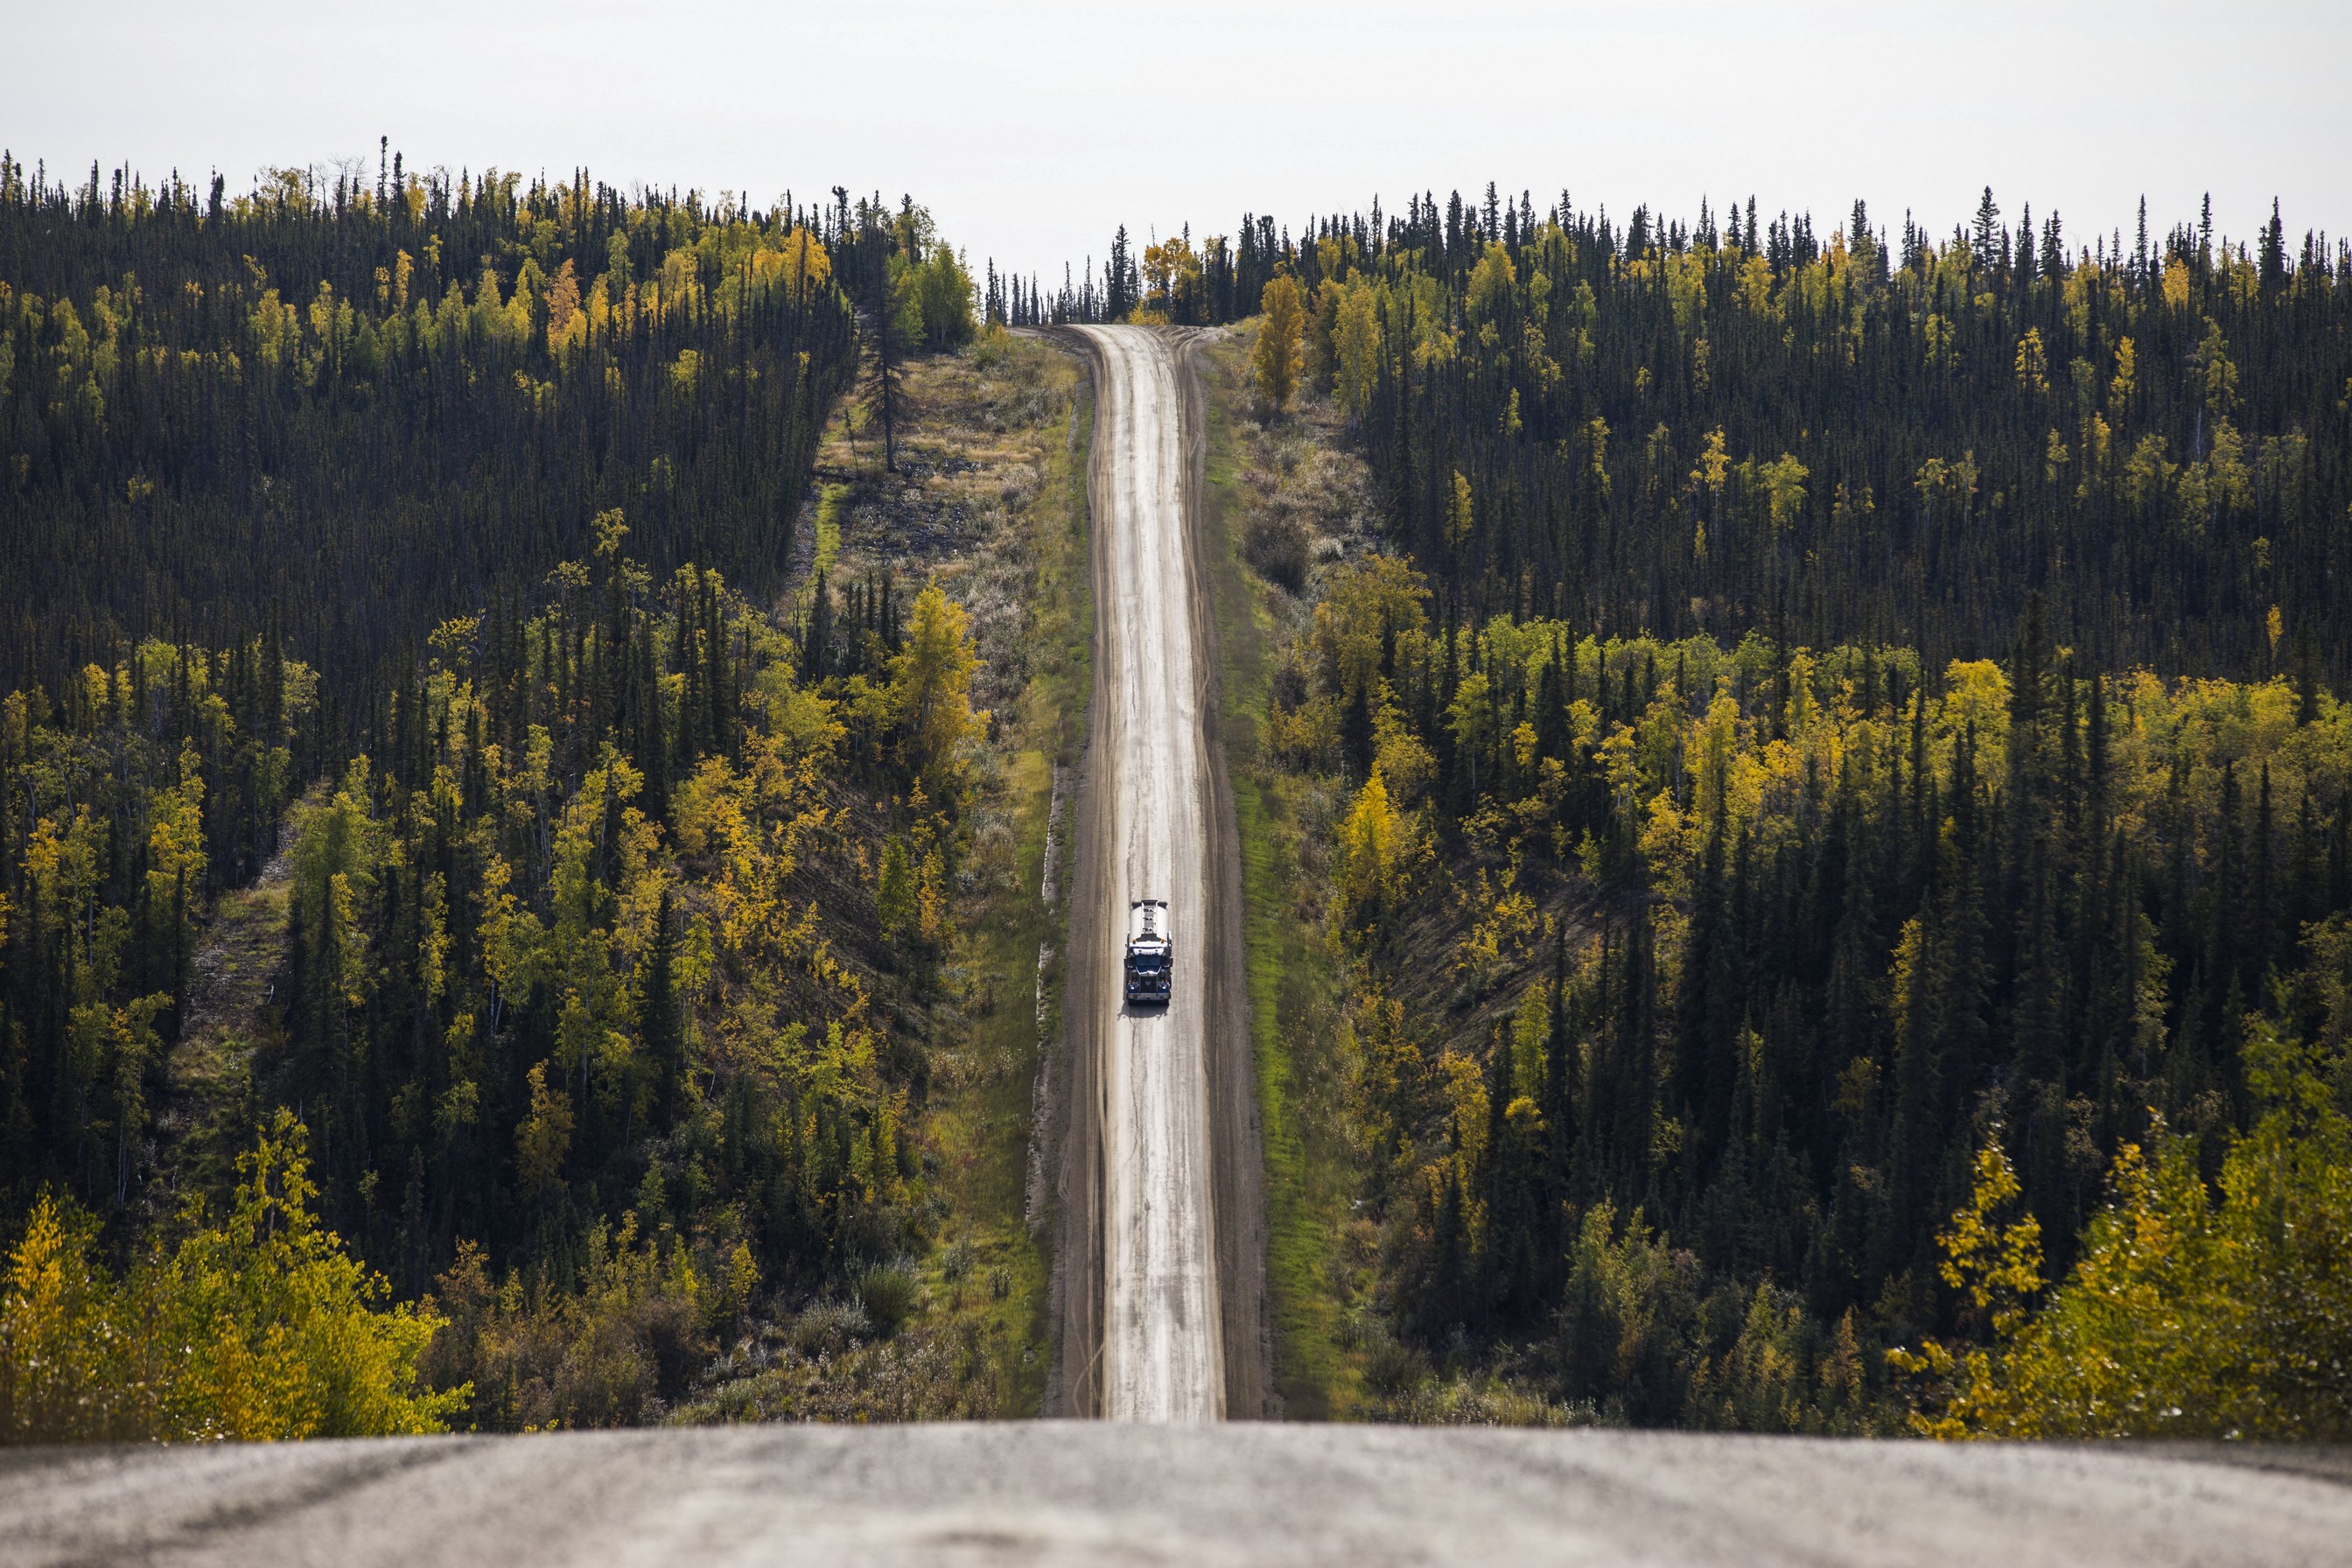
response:
<svg viewBox="0 0 2352 1568"><path fill-rule="evenodd" d="M2352 233L2352 5L830 5L7 0L0 143L148 176L365 158L621 186L913 193L974 268L1374 195L1566 188L1623 216L1856 197L1936 230L1990 183L2074 240L2213 193Z"/></svg>

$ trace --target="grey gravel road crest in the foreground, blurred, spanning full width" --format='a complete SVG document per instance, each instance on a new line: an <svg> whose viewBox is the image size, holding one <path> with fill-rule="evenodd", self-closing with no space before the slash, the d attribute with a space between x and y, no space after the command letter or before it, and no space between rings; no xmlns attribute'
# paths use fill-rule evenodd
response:
<svg viewBox="0 0 2352 1568"><path fill-rule="evenodd" d="M0 1458L16 1563L2331 1563L2328 1450L731 1427Z"/></svg>

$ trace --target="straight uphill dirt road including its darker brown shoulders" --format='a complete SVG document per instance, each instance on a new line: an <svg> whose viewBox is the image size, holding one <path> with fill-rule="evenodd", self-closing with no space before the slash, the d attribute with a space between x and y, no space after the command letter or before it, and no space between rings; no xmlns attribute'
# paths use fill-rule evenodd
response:
<svg viewBox="0 0 2352 1568"><path fill-rule="evenodd" d="M1263 1241L1247 1213L1228 1218L1218 1201L1230 1208L1218 1166L1254 1161L1256 1150L1230 1147L1230 1128L1218 1135L1214 1107L1232 1095L1211 1093L1211 1077L1230 1091L1235 1070L1247 1074L1247 1030L1232 1006L1232 813L1209 724L1216 649L1195 527L1200 421L1183 339L1087 327L1080 343L1096 381L1096 665L1065 999L1063 1378L1049 1408L1207 1422L1228 1413L1221 1265L1247 1272L1254 1288L1261 1274L1230 1241L1254 1241L1261 1255ZM1169 903L1176 980L1164 1009L1122 997L1136 898ZM1247 1382L1256 1401L1256 1380Z"/></svg>

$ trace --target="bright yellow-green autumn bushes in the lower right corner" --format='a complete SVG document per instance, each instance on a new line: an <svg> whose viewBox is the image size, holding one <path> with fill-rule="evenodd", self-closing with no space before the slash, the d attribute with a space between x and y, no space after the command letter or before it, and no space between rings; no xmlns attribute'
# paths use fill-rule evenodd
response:
<svg viewBox="0 0 2352 1568"><path fill-rule="evenodd" d="M2197 1143L2154 1119L2129 1143L2082 1258L2039 1312L2039 1229L2002 1225L2016 1175L1999 1145L1943 1234L1945 1279L1987 1312L1990 1342L1891 1352L1926 1380L1926 1436L2352 1436L2352 1119L2343 1053L2246 1039L2260 1119L2230 1143L2216 1197Z"/></svg>

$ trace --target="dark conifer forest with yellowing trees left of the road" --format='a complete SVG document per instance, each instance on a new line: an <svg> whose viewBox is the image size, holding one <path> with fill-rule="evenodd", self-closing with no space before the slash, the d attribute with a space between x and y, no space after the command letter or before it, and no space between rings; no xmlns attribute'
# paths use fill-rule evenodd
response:
<svg viewBox="0 0 2352 1568"><path fill-rule="evenodd" d="M193 1378L139 1356L198 1288L151 1227L332 1227L367 1267L346 1319L445 1274L459 1309L430 1352L383 1319L308 1359L367 1399L254 1415L228 1368L75 1418L26 1373L0 1420L402 1429L468 1408L407 1387L426 1356L527 1422L513 1356L475 1368L485 1319L604 1281L647 1321L576 1375L659 1361L675 1392L762 1274L887 1258L920 1060L868 978L884 940L946 950L971 644L887 576L767 607L861 315L884 369L971 334L927 214L7 162L0 233L0 1190L49 1248L21 1260L92 1269L89 1300L129 1265L111 1309L143 1331L92 1378L151 1394ZM165 1126L207 914L263 877L285 929L233 1126ZM245 1241L230 1293L285 1272Z"/></svg>

